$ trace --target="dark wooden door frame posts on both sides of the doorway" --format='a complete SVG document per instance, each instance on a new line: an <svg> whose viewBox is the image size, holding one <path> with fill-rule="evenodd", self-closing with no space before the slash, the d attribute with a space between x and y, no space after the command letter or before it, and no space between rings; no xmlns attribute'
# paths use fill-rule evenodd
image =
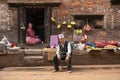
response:
<svg viewBox="0 0 120 80"><path fill-rule="evenodd" d="M45 6L45 16L44 16L44 39L45 43L49 43L49 37L51 35L51 23L50 23L50 18L51 18L51 7L50 6ZM26 25L26 7L25 6L20 6L18 10L18 32L19 32L19 43L20 44L26 44L26 29L22 29L23 27L27 26ZM25 27L26 28L26 27Z"/></svg>

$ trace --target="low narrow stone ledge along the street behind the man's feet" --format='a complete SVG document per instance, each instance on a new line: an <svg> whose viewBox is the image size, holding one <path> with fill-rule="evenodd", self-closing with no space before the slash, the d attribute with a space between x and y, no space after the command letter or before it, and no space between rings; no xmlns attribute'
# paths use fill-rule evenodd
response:
<svg viewBox="0 0 120 80"><path fill-rule="evenodd" d="M66 67L66 66L65 66ZM120 64L117 65L73 65L72 70L108 70L108 69L120 69ZM53 66L38 66L38 67L6 67L1 69L2 71L25 71L25 70L39 70L39 71L52 71Z"/></svg>

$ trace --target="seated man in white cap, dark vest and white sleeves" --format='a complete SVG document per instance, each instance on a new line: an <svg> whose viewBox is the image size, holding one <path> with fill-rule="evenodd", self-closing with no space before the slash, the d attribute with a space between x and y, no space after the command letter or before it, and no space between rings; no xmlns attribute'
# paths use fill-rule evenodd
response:
<svg viewBox="0 0 120 80"><path fill-rule="evenodd" d="M67 62L67 70L71 72L71 44L65 40L64 34L59 34L59 44L57 46L56 54L53 57L54 72L59 71L59 61L65 60Z"/></svg>

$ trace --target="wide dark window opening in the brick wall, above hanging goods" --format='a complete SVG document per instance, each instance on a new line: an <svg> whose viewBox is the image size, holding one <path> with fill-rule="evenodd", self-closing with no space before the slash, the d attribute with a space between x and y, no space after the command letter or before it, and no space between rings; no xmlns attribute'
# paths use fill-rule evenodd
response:
<svg viewBox="0 0 120 80"><path fill-rule="evenodd" d="M104 29L104 15L75 15L74 18L79 20L80 28L88 23L92 29Z"/></svg>

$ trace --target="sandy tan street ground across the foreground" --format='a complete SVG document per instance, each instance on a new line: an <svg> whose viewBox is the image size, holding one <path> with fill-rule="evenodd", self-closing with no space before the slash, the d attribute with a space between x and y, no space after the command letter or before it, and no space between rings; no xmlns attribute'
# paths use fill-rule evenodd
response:
<svg viewBox="0 0 120 80"><path fill-rule="evenodd" d="M0 80L120 80L120 67L78 66L72 73L52 73L52 67L8 67L1 69Z"/></svg>

